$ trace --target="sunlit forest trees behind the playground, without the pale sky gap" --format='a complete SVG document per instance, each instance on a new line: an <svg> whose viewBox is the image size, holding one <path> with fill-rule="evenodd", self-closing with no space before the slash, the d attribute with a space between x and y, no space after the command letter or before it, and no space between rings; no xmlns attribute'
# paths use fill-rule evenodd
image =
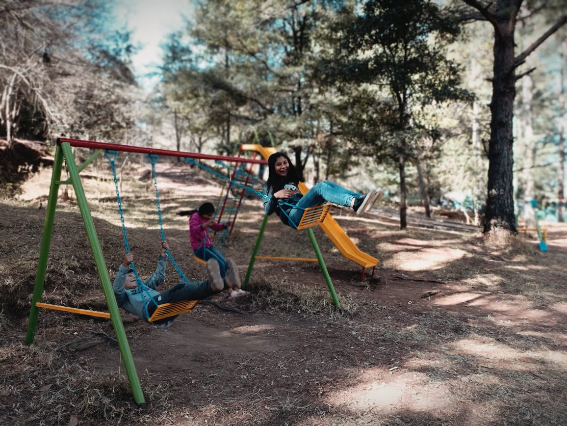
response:
<svg viewBox="0 0 567 426"><path fill-rule="evenodd" d="M225 154L254 142L293 153L311 183L384 187L401 229L408 202L429 216L446 198L483 212L485 232L533 221L533 199L558 201L562 220L565 1L192 6L148 94L108 2L3 1L3 192L33 170L16 138Z"/></svg>

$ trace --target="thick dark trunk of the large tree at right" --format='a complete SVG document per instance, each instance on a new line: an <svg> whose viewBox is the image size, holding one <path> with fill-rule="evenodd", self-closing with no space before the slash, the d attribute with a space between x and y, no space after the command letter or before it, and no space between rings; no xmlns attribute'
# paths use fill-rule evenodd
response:
<svg viewBox="0 0 567 426"><path fill-rule="evenodd" d="M484 232L499 229L516 232L514 220L513 131L515 68L514 28L517 10L515 2L499 0L501 13L494 36L494 77L490 101L490 141L488 146L488 195Z"/></svg>

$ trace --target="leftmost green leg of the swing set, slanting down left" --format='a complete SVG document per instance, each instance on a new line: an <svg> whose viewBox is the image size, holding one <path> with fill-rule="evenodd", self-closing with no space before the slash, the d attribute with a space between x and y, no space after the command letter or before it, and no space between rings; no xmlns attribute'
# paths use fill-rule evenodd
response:
<svg viewBox="0 0 567 426"><path fill-rule="evenodd" d="M39 307L36 306L36 303L41 302L41 296L43 294L43 283L45 281L45 273L47 271L47 263L49 261L49 246L51 245L51 236L53 234L53 221L55 218L57 198L59 195L59 184L57 182L61 178L62 165L63 155L61 148L57 146L53 160L53 170L51 174L51 184L49 185L47 208L45 209L45 222L43 225L43 236L41 237L39 260L37 261L37 273L35 287L33 288L32 306L29 309L28 332L26 334L25 341L27 345L31 345L33 343L37 329Z"/></svg>

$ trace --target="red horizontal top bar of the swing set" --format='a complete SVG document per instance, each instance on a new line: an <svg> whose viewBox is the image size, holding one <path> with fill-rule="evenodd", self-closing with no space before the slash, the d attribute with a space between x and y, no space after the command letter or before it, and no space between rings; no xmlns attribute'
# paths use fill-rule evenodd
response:
<svg viewBox="0 0 567 426"><path fill-rule="evenodd" d="M168 149L146 148L143 146L111 144L110 142L81 141L79 139L57 138L57 145L64 142L71 146L82 148L104 149L110 151L125 151L139 154L166 155L167 157L196 158L201 160L235 161L238 163L268 164L266 160L255 158L229 157L227 155L198 154Z"/></svg>

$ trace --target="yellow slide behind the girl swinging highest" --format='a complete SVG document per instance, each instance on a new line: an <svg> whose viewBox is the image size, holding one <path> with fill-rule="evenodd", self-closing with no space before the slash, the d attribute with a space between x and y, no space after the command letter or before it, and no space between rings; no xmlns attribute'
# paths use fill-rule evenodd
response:
<svg viewBox="0 0 567 426"><path fill-rule="evenodd" d="M277 152L271 146L261 146L253 144L242 145L243 151L258 151L264 159ZM299 189L301 192L306 193L308 191L307 185L303 182L299 182ZM354 263L361 265L363 268L375 267L378 264L378 259L361 251L356 244L353 243L352 239L346 235L345 230L338 225L337 221L333 219L331 214L327 214L325 220L319 224L321 229L327 234L327 237L331 239L333 244L338 248L345 258L352 260Z"/></svg>

